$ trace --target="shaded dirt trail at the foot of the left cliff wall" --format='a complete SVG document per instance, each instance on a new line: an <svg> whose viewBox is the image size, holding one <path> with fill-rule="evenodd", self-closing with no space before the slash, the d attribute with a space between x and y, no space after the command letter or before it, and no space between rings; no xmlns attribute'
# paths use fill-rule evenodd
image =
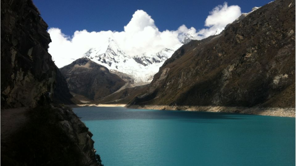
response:
<svg viewBox="0 0 296 166"><path fill-rule="evenodd" d="M1 109L1 147L7 142L9 136L21 128L27 121L27 107L15 109Z"/></svg>

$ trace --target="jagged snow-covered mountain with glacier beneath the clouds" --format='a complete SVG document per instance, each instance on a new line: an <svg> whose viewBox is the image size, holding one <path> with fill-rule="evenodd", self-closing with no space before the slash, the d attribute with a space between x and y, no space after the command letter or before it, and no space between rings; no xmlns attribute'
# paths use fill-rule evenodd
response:
<svg viewBox="0 0 296 166"><path fill-rule="evenodd" d="M133 77L136 83L148 84L163 62L171 57L180 46L164 48L153 55L143 53L130 56L124 53L113 39L109 38L105 44L89 49L84 57L88 57L111 71L128 74Z"/></svg>

